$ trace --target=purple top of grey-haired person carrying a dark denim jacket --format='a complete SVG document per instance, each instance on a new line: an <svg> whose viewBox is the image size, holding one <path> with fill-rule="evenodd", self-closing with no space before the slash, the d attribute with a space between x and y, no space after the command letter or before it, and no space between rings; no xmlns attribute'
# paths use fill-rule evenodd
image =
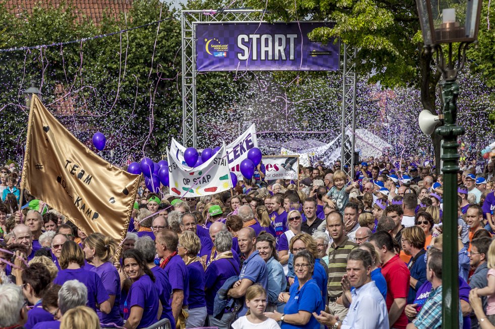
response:
<svg viewBox="0 0 495 329"><path fill-rule="evenodd" d="M239 267L232 258L214 260L205 272L205 296L208 314L213 315L213 305L217 291L227 279L239 275Z"/></svg>

